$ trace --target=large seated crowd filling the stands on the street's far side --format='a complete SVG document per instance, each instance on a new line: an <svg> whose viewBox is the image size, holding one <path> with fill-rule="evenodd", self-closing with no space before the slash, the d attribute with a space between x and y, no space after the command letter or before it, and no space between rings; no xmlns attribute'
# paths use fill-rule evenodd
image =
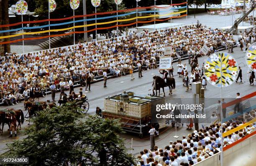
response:
<svg viewBox="0 0 256 166"><path fill-rule="evenodd" d="M6 53L0 58L0 99L13 104L27 93L32 95L31 89L36 85L40 96L44 95L41 90L49 88L51 83L68 89L70 78L84 85L87 78L94 80L94 76L102 75L104 70L117 77L138 65L142 70L149 70L157 67L156 60L164 55L166 45L172 45L173 55L180 58L187 54L202 55L199 50L204 44L210 48L209 53L213 53L228 40L233 40L232 35L197 24L154 32L130 32L126 37L79 42L75 46L33 53Z"/></svg>

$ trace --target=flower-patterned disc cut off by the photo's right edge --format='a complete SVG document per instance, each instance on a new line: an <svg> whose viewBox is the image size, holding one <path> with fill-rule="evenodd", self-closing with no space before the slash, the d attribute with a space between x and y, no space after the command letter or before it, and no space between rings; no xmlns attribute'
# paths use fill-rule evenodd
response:
<svg viewBox="0 0 256 166"><path fill-rule="evenodd" d="M246 51L246 63L248 68L256 72L256 43L253 43Z"/></svg>

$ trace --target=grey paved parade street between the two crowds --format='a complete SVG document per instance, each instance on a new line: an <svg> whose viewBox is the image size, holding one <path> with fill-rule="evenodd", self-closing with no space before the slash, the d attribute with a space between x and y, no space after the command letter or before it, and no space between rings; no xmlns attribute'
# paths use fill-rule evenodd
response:
<svg viewBox="0 0 256 166"><path fill-rule="evenodd" d="M231 53L233 57L237 60L239 66L241 66L243 71L243 83L233 83L233 85L223 88L223 98L235 98L236 93L240 92L241 96L245 96L249 93L252 93L255 91L255 86L250 86L248 82L248 68L246 66L245 62L245 53L240 51L240 48L234 48L235 53ZM200 66L202 66L203 61L206 59L206 57L200 57L198 58L198 61L200 63ZM188 64L188 60L182 61L182 63ZM168 95L169 88L165 88L166 91L166 103L171 102L174 98L192 98L192 92L188 91L185 92L186 88L182 86L182 78L179 78L177 75L177 63L174 63L174 78L176 80L176 88L173 90L172 95ZM107 81L107 88L103 88L103 82L94 83L91 85L91 91L87 93L87 96L89 98L90 103L90 109L88 111L89 114L94 114L95 109L97 106L99 106L102 110L104 110L104 97L112 96L114 94L119 94L123 91L133 91L136 96L146 96L150 93L152 93L152 77L154 75L160 75L158 73L158 69L154 70L147 70L143 72L143 77L138 78L138 73L135 73L134 80L131 80L130 75L123 76L121 78L113 78L109 79ZM190 72L190 67L188 67L188 71ZM76 93L78 93L79 88L75 88ZM68 92L67 92L68 93ZM161 96L163 96L163 93L161 91ZM56 94L56 99L59 98L59 93ZM220 98L220 88L216 88L208 83L206 90L205 90L205 98ZM51 96L46 96L45 98L40 98L40 101L46 101L47 99L51 100ZM4 109L7 107L1 107L0 109ZM23 102L15 105L14 107L9 108L17 108L17 109L24 109L23 108ZM26 115L27 111L24 111L24 114ZM209 117L209 116L208 116ZM183 135L187 135L188 133L191 133L192 131L187 131L185 129L186 124L184 123L183 128L177 129L177 136L179 138ZM27 122L22 125L22 128L28 127ZM201 126L200 126L201 128ZM164 131L164 132L163 132ZM176 138L173 138L175 135L175 129L170 128L164 128L161 130L161 136L156 138L156 145L159 147L164 147L168 144L170 140L174 141ZM5 126L3 136L0 136L0 153L3 153L3 148L6 147L6 143L10 143L13 140L21 139L25 136L22 136L22 133L18 131L18 137L17 138L8 138L9 133L7 131L7 128ZM127 143L127 147L131 147L131 138L133 138L133 153L137 153L144 148L149 148L150 142L148 138L139 139L136 135L130 135L130 134L122 134L122 138L125 139L125 142Z"/></svg>

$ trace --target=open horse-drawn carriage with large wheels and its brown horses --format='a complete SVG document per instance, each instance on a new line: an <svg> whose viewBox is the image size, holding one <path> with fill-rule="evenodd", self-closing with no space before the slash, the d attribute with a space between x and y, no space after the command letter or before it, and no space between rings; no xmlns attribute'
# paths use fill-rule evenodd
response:
<svg viewBox="0 0 256 166"><path fill-rule="evenodd" d="M89 103L88 103L88 98L86 95L83 95L81 98L76 98L73 100L74 102L77 103L77 107L82 108L82 113L87 113L89 110ZM70 101L65 101L62 104L65 104L67 102L72 102ZM46 108L53 108L56 106L56 103L54 102L31 102L31 101L26 101L24 102L24 108L25 110L28 110L28 113L25 115L25 118L29 118L28 124L30 122L30 118L33 116L38 115L38 111L44 111Z"/></svg>

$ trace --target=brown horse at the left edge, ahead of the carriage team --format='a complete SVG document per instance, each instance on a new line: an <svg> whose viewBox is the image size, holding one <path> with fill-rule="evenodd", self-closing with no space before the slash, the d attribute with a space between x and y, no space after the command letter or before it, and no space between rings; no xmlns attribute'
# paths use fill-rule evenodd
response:
<svg viewBox="0 0 256 166"><path fill-rule="evenodd" d="M24 114L22 110L14 110L14 109L8 109L6 111L0 111L0 125L2 123L2 129L0 129L0 132L2 131L1 135L3 135L3 127L4 124L7 123L9 126L9 130L10 130L10 117L14 115L16 120L18 121L18 126L17 128L20 126L20 130L21 130L21 124L23 124L24 122Z"/></svg>

